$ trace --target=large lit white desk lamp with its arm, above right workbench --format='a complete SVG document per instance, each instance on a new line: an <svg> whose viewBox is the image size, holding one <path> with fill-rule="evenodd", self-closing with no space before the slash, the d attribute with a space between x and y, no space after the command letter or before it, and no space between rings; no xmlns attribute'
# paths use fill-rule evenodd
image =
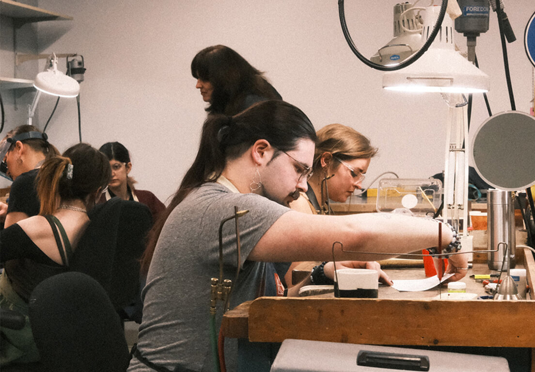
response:
<svg viewBox="0 0 535 372"><path fill-rule="evenodd" d="M423 38L439 11L440 7L426 7L422 14ZM463 237L467 238L468 112L463 94L487 92L490 78L455 50L453 20L446 15L430 48L404 69L386 72L383 87L404 92L438 92L445 98L449 109L442 217L444 221L452 219L456 229L460 229L459 219L463 218Z"/></svg>

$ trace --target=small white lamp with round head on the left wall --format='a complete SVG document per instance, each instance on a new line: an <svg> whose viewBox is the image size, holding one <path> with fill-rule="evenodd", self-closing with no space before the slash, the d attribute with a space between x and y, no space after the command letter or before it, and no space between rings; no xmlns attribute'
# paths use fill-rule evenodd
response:
<svg viewBox="0 0 535 372"><path fill-rule="evenodd" d="M58 70L58 58L56 54L50 57L49 67L46 71L37 74L34 87L37 93L32 105L28 107L28 125L32 125L32 118L39 102L41 93L57 97L73 98L80 93L80 84L75 79Z"/></svg>

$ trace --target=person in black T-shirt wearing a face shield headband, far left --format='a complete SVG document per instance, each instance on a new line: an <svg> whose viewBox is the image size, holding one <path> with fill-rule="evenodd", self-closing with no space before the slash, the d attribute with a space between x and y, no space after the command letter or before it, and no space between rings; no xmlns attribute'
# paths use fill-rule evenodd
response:
<svg viewBox="0 0 535 372"><path fill-rule="evenodd" d="M13 179L7 204L5 227L39 214L35 177L45 160L59 155L47 135L32 125L21 125L0 142L2 173Z"/></svg>

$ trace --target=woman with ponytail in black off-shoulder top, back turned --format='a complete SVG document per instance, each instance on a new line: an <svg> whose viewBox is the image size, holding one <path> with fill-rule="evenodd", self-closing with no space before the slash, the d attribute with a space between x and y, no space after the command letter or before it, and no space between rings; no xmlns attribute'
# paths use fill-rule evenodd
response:
<svg viewBox="0 0 535 372"><path fill-rule="evenodd" d="M108 159L86 143L45 161L37 174L40 213L0 232L0 306L26 316L22 330L1 328L0 365L39 360L28 319L28 299L44 279L65 272L89 224L87 212L108 185ZM59 238L59 234L62 238Z"/></svg>

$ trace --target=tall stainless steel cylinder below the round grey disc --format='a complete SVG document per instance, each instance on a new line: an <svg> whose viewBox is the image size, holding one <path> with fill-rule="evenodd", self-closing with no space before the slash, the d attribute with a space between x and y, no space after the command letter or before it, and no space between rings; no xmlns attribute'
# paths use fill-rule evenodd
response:
<svg viewBox="0 0 535 372"><path fill-rule="evenodd" d="M487 191L487 238L488 249L498 249L488 252L488 267L507 271L509 261L515 267L515 207L510 191Z"/></svg>

